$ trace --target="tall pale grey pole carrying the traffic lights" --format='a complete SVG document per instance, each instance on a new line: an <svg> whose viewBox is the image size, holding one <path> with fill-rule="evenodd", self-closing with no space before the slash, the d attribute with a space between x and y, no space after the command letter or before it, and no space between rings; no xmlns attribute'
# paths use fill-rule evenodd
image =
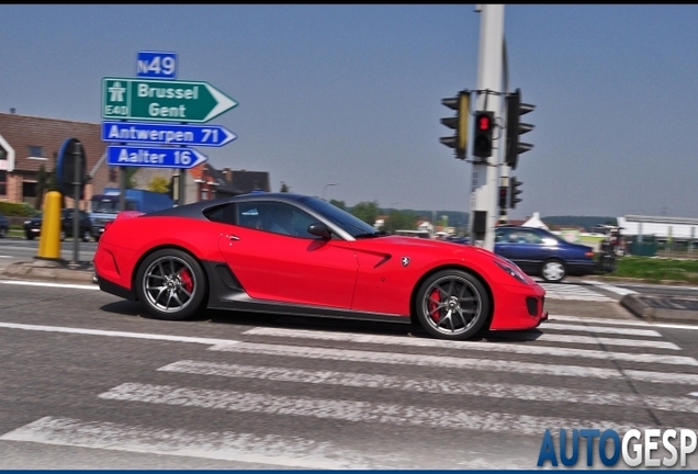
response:
<svg viewBox="0 0 698 474"><path fill-rule="evenodd" d="M500 116L502 97L481 91L502 90L502 48L504 46L504 4L480 5L480 50L477 57L476 110L494 112ZM500 131L502 128L499 128ZM470 240L494 251L494 228L499 218L499 163L505 146L504 134L495 140L489 161L473 162L470 193Z"/></svg>

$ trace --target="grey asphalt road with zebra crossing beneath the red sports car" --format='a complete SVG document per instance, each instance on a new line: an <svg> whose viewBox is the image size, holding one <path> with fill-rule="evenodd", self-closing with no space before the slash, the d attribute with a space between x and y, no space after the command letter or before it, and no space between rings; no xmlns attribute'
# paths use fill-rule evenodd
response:
<svg viewBox="0 0 698 474"><path fill-rule="evenodd" d="M697 427L698 326L547 287L539 329L455 343L1 280L0 469L536 469L545 429Z"/></svg>

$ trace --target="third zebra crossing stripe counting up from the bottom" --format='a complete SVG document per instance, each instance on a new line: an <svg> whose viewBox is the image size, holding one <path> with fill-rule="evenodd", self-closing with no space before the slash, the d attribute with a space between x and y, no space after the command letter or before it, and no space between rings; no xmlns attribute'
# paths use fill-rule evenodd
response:
<svg viewBox="0 0 698 474"><path fill-rule="evenodd" d="M224 362L198 362L183 360L165 365L158 371L194 375L223 376L235 379L269 380L307 384L337 385L359 388L398 390L406 392L446 395L486 396L492 398L514 398L559 403L581 403L588 405L638 406L642 403L652 409L698 413L698 399L686 397L640 396L612 392L593 392L548 386L497 384L480 382L453 382L431 379L407 379L394 375L375 375L354 372L315 371L305 369L270 368L230 364Z"/></svg>

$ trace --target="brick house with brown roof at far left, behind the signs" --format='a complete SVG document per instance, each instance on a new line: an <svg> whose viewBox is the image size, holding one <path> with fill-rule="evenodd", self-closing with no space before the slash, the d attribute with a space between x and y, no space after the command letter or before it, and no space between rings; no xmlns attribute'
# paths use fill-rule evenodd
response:
<svg viewBox="0 0 698 474"><path fill-rule="evenodd" d="M102 190L109 183L106 167L97 167L106 149L101 139L101 125L19 115L14 109L0 113L0 201L40 206L36 190L40 169L43 166L49 173L56 168L60 147L68 138L82 143L86 171L95 171L85 187L86 201L80 207L87 208L94 190ZM72 207L72 200L66 199L66 205Z"/></svg>

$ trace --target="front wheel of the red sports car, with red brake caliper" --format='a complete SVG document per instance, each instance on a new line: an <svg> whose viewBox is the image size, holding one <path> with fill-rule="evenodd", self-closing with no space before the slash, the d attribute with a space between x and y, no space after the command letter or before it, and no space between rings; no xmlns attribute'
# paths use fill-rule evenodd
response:
<svg viewBox="0 0 698 474"><path fill-rule="evenodd" d="M431 336L464 340L482 329L492 302L484 285L471 273L443 270L419 286L415 306L419 324Z"/></svg>

